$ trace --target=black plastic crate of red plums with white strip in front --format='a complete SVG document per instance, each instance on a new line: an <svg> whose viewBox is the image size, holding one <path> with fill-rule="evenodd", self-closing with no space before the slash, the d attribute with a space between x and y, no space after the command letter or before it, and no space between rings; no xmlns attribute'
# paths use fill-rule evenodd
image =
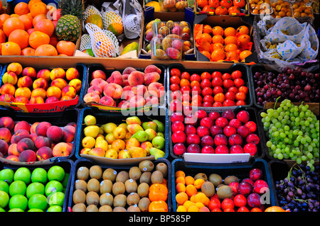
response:
<svg viewBox="0 0 320 226"><path fill-rule="evenodd" d="M206 113L210 113L211 111L208 110L208 108L206 109L203 109L204 111L206 111ZM255 158L261 158L263 159L265 157L265 134L264 134L264 131L263 131L263 128L261 127L260 123L258 122L260 120L259 116L257 115L257 110L255 108L252 108L252 107L238 107L238 108L235 108L234 112L235 112L235 115L237 115L240 111L247 111L249 114L250 114L250 121L253 121L256 123L257 125L257 130L255 131L255 134L259 136L260 138L260 142L259 144L257 145L257 154L255 154ZM218 111L220 114L223 113L223 111ZM170 116L169 116L169 137L172 136L172 131L171 131L171 120L170 120ZM244 140L245 142L245 140ZM181 158L181 156L177 156L176 154L174 154L174 144L173 142L170 140L169 142L169 148L170 148L170 154L171 154L171 157L173 158Z"/></svg>

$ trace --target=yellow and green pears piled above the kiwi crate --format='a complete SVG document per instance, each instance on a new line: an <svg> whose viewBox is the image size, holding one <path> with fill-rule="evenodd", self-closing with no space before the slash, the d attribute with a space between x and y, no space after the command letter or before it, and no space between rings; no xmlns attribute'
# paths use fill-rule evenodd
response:
<svg viewBox="0 0 320 226"><path fill-rule="evenodd" d="M93 115L86 115L83 120L85 128L80 154L110 159L141 158L150 155L158 159L165 156L165 128L164 123L159 120L142 123L139 117L131 116L119 125L97 125L97 119Z"/></svg>

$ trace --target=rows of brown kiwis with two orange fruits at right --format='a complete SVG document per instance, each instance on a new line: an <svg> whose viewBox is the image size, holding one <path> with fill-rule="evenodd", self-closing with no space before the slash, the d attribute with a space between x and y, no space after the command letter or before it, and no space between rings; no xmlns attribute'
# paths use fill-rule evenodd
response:
<svg viewBox="0 0 320 226"><path fill-rule="evenodd" d="M73 212L168 212L165 162L144 160L129 169L80 166L75 173Z"/></svg>

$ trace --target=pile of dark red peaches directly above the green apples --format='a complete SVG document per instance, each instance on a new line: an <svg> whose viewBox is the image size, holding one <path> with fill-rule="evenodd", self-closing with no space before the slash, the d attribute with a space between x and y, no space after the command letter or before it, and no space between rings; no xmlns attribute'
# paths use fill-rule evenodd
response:
<svg viewBox="0 0 320 226"><path fill-rule="evenodd" d="M59 127L48 121L28 123L9 116L0 118L0 157L16 162L36 162L68 157L73 150L75 123Z"/></svg>

